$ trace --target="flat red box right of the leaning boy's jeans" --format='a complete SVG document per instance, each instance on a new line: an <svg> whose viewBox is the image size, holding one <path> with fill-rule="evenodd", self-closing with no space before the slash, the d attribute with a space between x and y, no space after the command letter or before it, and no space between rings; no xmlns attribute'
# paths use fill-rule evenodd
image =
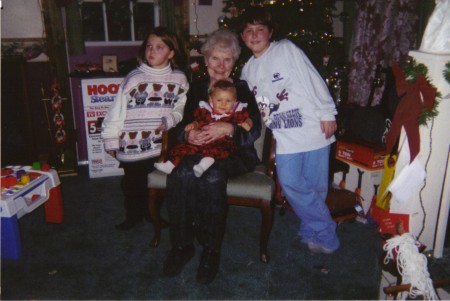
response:
<svg viewBox="0 0 450 301"><path fill-rule="evenodd" d="M369 147L356 143L337 141L336 158L359 167L377 170L384 168L384 147Z"/></svg>

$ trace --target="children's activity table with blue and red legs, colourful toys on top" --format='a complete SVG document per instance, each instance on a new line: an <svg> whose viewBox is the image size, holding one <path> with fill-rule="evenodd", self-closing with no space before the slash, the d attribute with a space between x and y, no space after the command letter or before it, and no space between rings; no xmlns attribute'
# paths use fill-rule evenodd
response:
<svg viewBox="0 0 450 301"><path fill-rule="evenodd" d="M22 246L18 219L44 204L47 223L63 222L58 173L48 164L7 166L1 174L1 258L19 259Z"/></svg>

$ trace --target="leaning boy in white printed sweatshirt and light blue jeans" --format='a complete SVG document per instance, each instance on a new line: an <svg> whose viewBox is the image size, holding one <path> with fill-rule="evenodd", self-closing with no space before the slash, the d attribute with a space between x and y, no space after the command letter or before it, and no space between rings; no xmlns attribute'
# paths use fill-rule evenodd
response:
<svg viewBox="0 0 450 301"><path fill-rule="evenodd" d="M325 199L330 144L337 114L328 88L291 41L272 42L274 24L263 7L246 9L241 38L253 52L242 70L262 118L277 141L277 174L284 196L300 218L299 235L312 252L339 248L336 223Z"/></svg>

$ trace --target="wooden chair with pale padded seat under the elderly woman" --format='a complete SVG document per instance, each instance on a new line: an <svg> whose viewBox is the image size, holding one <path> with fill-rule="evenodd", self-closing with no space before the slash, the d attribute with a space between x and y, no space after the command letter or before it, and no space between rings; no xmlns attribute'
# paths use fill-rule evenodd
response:
<svg viewBox="0 0 450 301"><path fill-rule="evenodd" d="M166 159L169 140L169 134L165 133L158 162L163 162ZM260 260L267 263L270 260L267 253L267 244L272 230L272 199L275 194L275 139L264 125L261 129L260 138L255 142L255 148L262 163L253 172L228 179L227 196L229 205L254 207L261 210L259 252ZM154 237L150 242L152 247L157 247L161 241L163 221L160 216L160 207L164 199L166 179L167 175L159 170L155 170L148 175L149 210L154 227Z"/></svg>

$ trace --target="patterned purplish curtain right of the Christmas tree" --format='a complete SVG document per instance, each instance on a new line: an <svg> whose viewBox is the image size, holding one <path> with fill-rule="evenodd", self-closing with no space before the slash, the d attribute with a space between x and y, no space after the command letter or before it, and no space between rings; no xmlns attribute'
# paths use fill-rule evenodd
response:
<svg viewBox="0 0 450 301"><path fill-rule="evenodd" d="M349 73L348 103L369 105L378 64L402 64L409 50L417 48L420 0L357 0L353 51ZM383 87L373 94L380 103Z"/></svg>

